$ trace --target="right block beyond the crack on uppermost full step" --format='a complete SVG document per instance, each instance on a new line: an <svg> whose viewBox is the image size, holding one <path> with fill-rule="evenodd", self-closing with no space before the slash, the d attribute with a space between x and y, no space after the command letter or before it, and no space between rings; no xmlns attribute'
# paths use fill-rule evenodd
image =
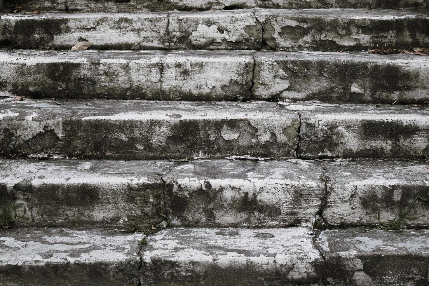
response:
<svg viewBox="0 0 429 286"><path fill-rule="evenodd" d="M257 9L268 49L361 50L429 44L427 10Z"/></svg>

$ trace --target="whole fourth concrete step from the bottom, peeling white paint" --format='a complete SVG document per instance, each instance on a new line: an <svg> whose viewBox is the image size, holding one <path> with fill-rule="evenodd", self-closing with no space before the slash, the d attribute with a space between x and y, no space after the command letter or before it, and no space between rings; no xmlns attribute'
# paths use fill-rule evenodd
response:
<svg viewBox="0 0 429 286"><path fill-rule="evenodd" d="M19 96L161 100L429 100L429 57L329 52L0 50Z"/></svg>

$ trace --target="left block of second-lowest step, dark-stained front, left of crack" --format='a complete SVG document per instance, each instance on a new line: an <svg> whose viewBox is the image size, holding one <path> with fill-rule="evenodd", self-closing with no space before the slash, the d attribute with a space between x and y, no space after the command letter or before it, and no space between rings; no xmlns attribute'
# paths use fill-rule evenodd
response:
<svg viewBox="0 0 429 286"><path fill-rule="evenodd" d="M151 226L165 212L157 161L1 160L0 205L23 202L17 226ZM18 210L22 211L22 209Z"/></svg>

